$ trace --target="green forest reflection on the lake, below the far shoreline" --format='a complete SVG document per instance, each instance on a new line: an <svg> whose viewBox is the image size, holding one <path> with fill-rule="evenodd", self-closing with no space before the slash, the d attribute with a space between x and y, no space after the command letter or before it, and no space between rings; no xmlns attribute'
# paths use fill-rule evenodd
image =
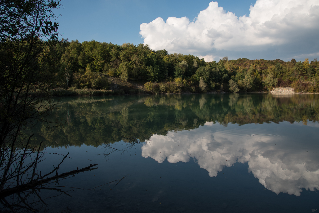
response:
<svg viewBox="0 0 319 213"><path fill-rule="evenodd" d="M46 146L99 146L134 136L147 141L154 134L190 130L207 121L248 124L319 121L317 94L205 94L64 98L52 120L65 125L49 131L44 126L31 143Z"/></svg>

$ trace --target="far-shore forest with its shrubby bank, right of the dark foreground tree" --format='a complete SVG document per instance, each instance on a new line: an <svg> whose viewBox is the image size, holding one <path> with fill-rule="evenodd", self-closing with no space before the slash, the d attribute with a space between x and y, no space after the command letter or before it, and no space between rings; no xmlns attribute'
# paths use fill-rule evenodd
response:
<svg viewBox="0 0 319 213"><path fill-rule="evenodd" d="M147 44L119 46L95 40L62 40L59 48L60 80L56 87L64 89L122 88L134 94L141 92L137 88L150 93L199 93L260 92L284 86L296 92L319 92L317 59L285 62L223 57L219 62L205 62L194 55L153 51ZM117 86L111 86L112 79L117 79Z"/></svg>

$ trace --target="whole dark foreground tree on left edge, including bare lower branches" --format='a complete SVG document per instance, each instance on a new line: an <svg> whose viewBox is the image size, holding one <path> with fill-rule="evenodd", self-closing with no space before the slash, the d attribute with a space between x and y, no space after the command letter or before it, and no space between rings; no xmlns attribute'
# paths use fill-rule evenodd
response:
<svg viewBox="0 0 319 213"><path fill-rule="evenodd" d="M64 78L64 72L59 71L64 71L61 56L66 42L59 40L53 13L59 7L59 0L0 1L0 194L3 206L12 212L22 208L36 211L29 200L25 202L29 198L23 199L20 194L31 188L27 184L34 192L45 182L40 180L50 175L36 174L44 153L40 152L41 144L30 145L33 135L27 133L38 122L45 129L56 124L47 115L56 108L51 92L61 74ZM10 190L16 190L20 199L11 207L5 200ZM22 197L26 194L30 193ZM8 200L14 202L11 198Z"/></svg>

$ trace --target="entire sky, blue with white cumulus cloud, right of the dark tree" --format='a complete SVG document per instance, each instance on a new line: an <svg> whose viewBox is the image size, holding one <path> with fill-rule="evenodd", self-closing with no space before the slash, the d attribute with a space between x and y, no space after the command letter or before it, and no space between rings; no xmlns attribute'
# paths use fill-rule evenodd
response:
<svg viewBox="0 0 319 213"><path fill-rule="evenodd" d="M319 0L61 3L63 7L55 11L61 14L59 32L69 40L147 43L153 50L197 55L205 61L223 56L285 61L319 58Z"/></svg>

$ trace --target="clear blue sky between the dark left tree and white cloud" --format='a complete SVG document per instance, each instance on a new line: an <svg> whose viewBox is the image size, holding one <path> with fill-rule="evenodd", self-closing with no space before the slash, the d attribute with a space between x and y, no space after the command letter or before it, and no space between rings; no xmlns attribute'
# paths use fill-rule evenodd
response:
<svg viewBox="0 0 319 213"><path fill-rule="evenodd" d="M139 34L140 24L149 23L155 18L166 20L175 16L186 16L190 20L204 10L209 0L63 0L59 32L63 38L82 41L97 40L100 42L143 43ZM249 15L249 6L255 1L220 0L219 6L225 11L232 11L236 16Z"/></svg>

